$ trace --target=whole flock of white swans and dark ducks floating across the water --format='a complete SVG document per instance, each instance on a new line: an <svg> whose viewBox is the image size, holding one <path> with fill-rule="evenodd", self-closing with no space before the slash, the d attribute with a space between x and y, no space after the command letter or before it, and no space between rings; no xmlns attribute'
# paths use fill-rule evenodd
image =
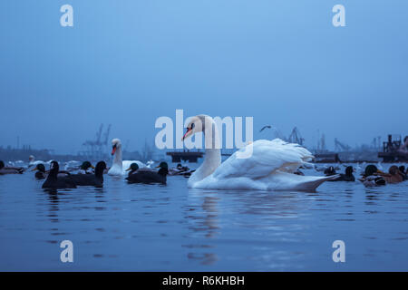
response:
<svg viewBox="0 0 408 290"><path fill-rule="evenodd" d="M212 136L205 136L206 126L211 126ZM215 121L207 115L190 119L187 131L182 137L186 140L202 132L219 144L219 132ZM242 158L246 152L250 154ZM70 170L60 170L57 161L50 161L50 169L45 170L44 162L31 160L30 165L37 171L36 179L45 179L43 189L73 189L78 186L103 186L103 174L125 177L129 183L166 184L168 175L188 177L191 189L257 189L257 190L315 190L325 181L355 181L354 169L347 167L345 174L336 174L332 167L326 169L325 176L305 176L299 169L316 168L309 163L313 155L298 144L284 140L256 140L237 150L221 163L220 149L208 148L202 164L196 170L189 170L180 164L169 169L166 162L160 162L156 169L140 160L122 160L121 140L112 140L112 166L108 169L104 161L93 168L88 161L73 174ZM94 169L94 172L90 172ZM158 169L158 170L157 170ZM327 171L328 170L328 171ZM24 169L5 167L0 161L0 175L22 173ZM380 186L406 179L401 169L390 168L389 173L369 165L364 170L362 181L365 186Z"/></svg>

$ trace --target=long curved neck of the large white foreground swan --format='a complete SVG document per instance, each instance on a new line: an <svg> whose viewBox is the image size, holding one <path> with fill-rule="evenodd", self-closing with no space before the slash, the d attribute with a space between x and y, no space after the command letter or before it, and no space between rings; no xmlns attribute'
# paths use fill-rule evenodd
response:
<svg viewBox="0 0 408 290"><path fill-rule="evenodd" d="M209 117L208 117L209 118ZM189 185L205 179L211 175L221 164L221 150L219 144L219 131L217 124L211 118L209 118L206 126L211 126L211 136L206 136L203 131L204 138L206 139L206 154L201 166L191 175L189 178Z"/></svg>

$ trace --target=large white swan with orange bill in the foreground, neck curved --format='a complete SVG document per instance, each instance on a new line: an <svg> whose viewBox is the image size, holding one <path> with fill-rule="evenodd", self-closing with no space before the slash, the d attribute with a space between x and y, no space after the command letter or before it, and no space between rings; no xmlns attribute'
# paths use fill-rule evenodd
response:
<svg viewBox="0 0 408 290"><path fill-rule="evenodd" d="M210 131L207 131L211 127ZM211 117L199 115L189 121L182 140L195 133L212 132L206 139L203 163L191 174L188 186L193 189L259 189L259 190L315 190L325 180L334 177L300 176L293 174L299 166L312 160L313 155L300 145L280 139L257 140L232 154L221 164L219 133ZM212 149L209 145L212 144ZM244 152L252 154L242 158ZM337 176L335 176L337 177Z"/></svg>

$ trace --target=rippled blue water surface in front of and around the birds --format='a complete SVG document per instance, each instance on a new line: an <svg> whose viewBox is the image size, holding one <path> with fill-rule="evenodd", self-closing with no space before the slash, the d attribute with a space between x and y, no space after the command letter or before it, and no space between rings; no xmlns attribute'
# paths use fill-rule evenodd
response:
<svg viewBox="0 0 408 290"><path fill-rule="evenodd" d="M408 182L305 193L189 190L186 181L106 176L104 189L52 194L33 172L0 176L0 270L408 270ZM65 239L73 263L60 260ZM345 263L332 260L335 240L345 241Z"/></svg>

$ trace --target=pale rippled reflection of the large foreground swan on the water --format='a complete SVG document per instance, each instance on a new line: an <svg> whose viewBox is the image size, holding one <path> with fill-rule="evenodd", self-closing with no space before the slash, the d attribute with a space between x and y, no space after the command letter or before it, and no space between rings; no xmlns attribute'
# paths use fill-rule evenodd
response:
<svg viewBox="0 0 408 290"><path fill-rule="evenodd" d="M233 202L230 199L233 199ZM228 227L232 223L235 227L265 231L263 239L258 239L259 237L255 236L238 236L238 240L229 240L228 243L236 243L237 247L241 247L241 243L245 245L248 241L253 240L264 250L261 251L260 256L251 256L250 258L272 260L269 262L274 264L275 257L290 256L290 251L280 249L278 253L270 256L264 255L265 247L270 247L270 253L274 253L274 243L300 242L303 239L302 235L294 237L293 232L298 233L300 230L306 233L307 227L296 222L298 218L301 218L299 212L310 208L311 204L318 199L318 195L305 192L270 194L270 192L259 191L190 189L189 206L186 207L184 214L189 220L189 237L193 237L197 243L184 246L190 249L188 258L197 259L202 265L212 265L219 261L216 253L220 251L217 244L222 241L223 224ZM235 204L236 207L229 208L228 205L231 204ZM242 216L255 216L257 218L243 221L240 218ZM293 221L282 223L282 218ZM267 245L268 241L270 245ZM242 247L242 253L246 254L245 246Z"/></svg>

